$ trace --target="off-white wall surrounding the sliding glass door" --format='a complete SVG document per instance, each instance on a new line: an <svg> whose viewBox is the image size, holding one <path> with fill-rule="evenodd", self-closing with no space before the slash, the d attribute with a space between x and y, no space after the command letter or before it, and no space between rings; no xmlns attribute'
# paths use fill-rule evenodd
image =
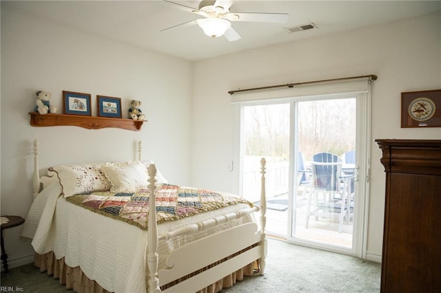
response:
<svg viewBox="0 0 441 293"><path fill-rule="evenodd" d="M401 129L400 93L441 88L441 14L229 54L195 65L192 184L235 191L234 123L227 91L377 74L373 85L368 257L380 260L384 169L376 138L440 139L440 128ZM204 85L203 87L198 85ZM237 166L237 162L235 164Z"/></svg>

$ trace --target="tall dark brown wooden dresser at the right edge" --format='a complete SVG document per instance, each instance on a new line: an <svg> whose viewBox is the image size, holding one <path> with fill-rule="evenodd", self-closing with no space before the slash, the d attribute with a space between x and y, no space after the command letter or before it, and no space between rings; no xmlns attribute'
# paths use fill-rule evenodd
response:
<svg viewBox="0 0 441 293"><path fill-rule="evenodd" d="M386 171L381 292L441 292L441 140L376 140Z"/></svg>

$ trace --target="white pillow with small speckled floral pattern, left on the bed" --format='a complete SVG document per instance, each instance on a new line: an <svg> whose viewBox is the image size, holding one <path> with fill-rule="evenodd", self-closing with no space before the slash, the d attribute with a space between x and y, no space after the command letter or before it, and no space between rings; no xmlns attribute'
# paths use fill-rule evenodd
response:
<svg viewBox="0 0 441 293"><path fill-rule="evenodd" d="M101 164L59 165L48 169L57 173L64 197L92 191L108 191L110 182L101 170Z"/></svg>

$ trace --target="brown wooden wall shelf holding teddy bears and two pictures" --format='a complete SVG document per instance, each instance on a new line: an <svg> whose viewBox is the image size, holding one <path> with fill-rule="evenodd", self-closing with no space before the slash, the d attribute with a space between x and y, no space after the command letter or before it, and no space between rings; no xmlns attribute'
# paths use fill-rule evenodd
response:
<svg viewBox="0 0 441 293"><path fill-rule="evenodd" d="M38 112L30 112L30 124L35 127L47 126L79 126L86 129L101 129L107 127L121 128L132 131L140 131L143 120L107 118L96 116L81 116L68 114L41 115Z"/></svg>

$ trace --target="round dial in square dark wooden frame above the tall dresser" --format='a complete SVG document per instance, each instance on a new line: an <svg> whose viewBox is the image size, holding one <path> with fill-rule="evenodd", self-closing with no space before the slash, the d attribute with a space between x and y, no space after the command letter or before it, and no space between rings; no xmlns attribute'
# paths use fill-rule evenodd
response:
<svg viewBox="0 0 441 293"><path fill-rule="evenodd" d="M441 89L401 93L401 128L441 127Z"/></svg>

